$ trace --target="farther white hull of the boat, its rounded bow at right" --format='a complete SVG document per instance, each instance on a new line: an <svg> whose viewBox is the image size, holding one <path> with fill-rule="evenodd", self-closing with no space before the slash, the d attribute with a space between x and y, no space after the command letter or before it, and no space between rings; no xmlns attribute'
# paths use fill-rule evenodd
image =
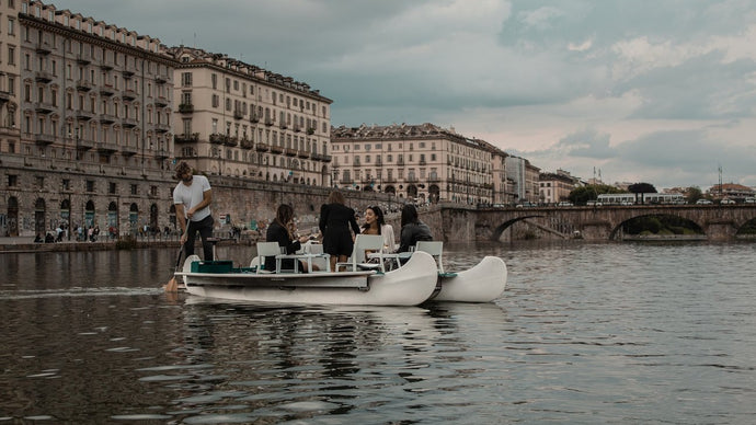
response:
<svg viewBox="0 0 756 425"><path fill-rule="evenodd" d="M485 256L474 267L454 276L439 276L440 291L433 301L491 302L506 287L506 264L497 256Z"/></svg>

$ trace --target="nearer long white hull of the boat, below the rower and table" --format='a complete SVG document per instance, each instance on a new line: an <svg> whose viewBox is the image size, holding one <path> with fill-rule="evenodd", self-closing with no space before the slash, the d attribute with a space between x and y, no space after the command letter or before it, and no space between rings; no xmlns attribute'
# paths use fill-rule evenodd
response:
<svg viewBox="0 0 756 425"><path fill-rule="evenodd" d="M422 252L385 274L192 273L190 260L177 275L183 276L188 294L201 297L289 305L417 306L436 287L435 262Z"/></svg>

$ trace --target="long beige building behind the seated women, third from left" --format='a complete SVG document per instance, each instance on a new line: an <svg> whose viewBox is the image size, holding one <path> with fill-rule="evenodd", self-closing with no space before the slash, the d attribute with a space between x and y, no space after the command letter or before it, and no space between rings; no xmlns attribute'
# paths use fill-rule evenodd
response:
<svg viewBox="0 0 756 425"><path fill-rule="evenodd" d="M492 152L433 124L333 128L333 182L420 203L492 202Z"/></svg>

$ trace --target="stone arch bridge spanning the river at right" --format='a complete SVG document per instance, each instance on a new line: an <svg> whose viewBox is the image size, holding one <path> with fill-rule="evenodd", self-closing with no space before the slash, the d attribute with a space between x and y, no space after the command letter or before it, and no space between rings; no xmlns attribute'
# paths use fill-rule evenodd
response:
<svg viewBox="0 0 756 425"><path fill-rule="evenodd" d="M446 240L500 240L513 225L527 222L555 238L616 239L622 223L644 216L675 216L698 225L708 240L733 240L756 219L756 205L632 205L598 207L440 208ZM505 236L506 238L506 236ZM511 236L509 236L511 238Z"/></svg>

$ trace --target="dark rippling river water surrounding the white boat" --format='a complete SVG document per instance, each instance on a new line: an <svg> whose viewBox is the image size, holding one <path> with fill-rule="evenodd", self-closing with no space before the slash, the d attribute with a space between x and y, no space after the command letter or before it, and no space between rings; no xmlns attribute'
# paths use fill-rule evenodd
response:
<svg viewBox="0 0 756 425"><path fill-rule="evenodd" d="M169 297L173 250L0 254L0 424L746 424L756 244L449 245L488 305ZM219 256L251 260L248 248Z"/></svg>

